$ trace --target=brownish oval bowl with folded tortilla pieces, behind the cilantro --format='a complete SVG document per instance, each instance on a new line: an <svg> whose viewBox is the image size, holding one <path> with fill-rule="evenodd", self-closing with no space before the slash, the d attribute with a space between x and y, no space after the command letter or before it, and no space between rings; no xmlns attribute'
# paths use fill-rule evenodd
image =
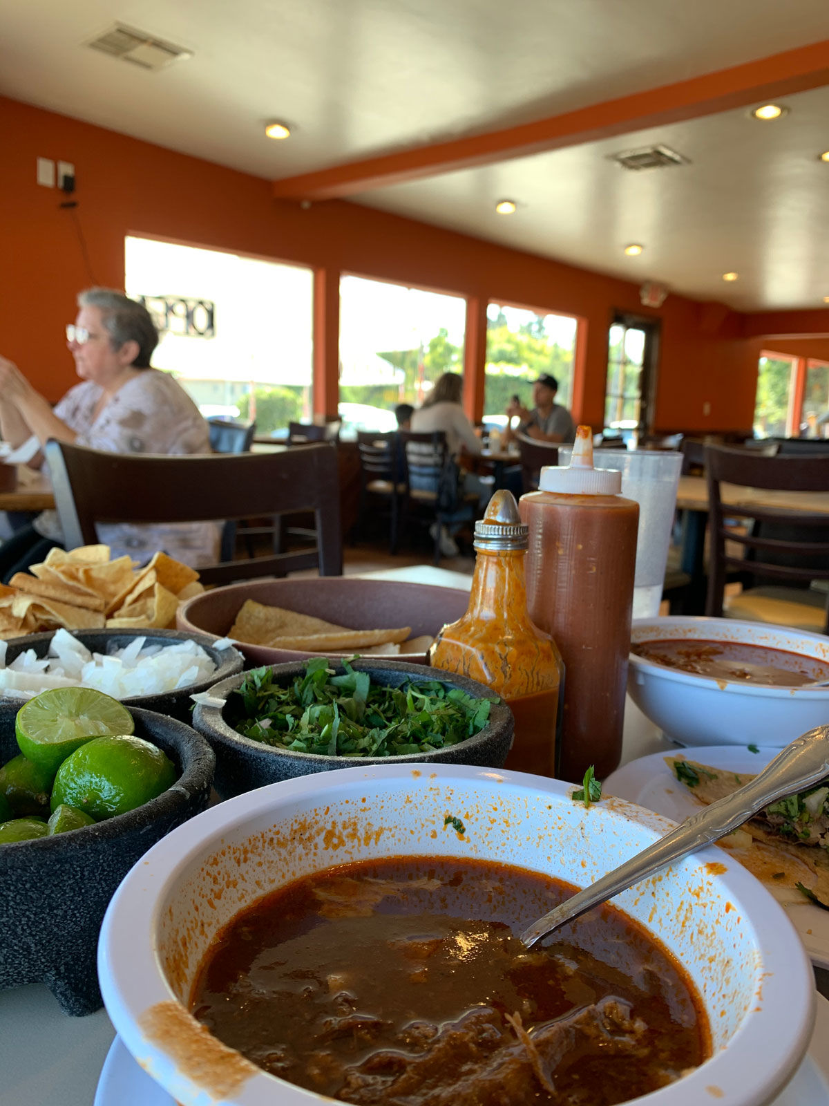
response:
<svg viewBox="0 0 829 1106"><path fill-rule="evenodd" d="M318 576L217 587L182 604L177 620L179 629L232 638L256 665L354 654L422 665L441 627L468 605L469 592L453 587Z"/></svg>

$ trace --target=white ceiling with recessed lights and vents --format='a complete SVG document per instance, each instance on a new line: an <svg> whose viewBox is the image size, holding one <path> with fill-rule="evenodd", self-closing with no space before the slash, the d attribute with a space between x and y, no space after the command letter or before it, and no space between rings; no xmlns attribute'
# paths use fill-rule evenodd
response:
<svg viewBox="0 0 829 1106"><path fill-rule="evenodd" d="M85 49L115 21L193 51ZM529 122L819 41L827 0L6 0L0 92L266 178ZM363 204L734 306L829 295L829 92L381 188ZM293 137L262 125L283 118ZM665 143L682 168L627 173ZM495 199L520 201L515 216ZM628 259L621 247L641 241ZM724 284L724 271L741 279Z"/></svg>

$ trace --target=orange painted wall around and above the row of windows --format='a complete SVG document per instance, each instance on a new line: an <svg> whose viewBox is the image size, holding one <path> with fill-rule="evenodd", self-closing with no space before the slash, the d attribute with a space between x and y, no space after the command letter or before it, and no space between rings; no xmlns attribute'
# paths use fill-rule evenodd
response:
<svg viewBox="0 0 829 1106"><path fill-rule="evenodd" d="M602 422L607 328L613 309L642 313L637 284L355 204L302 210L272 199L267 180L4 98L0 140L0 352L50 399L74 380L63 326L75 294L93 280L123 286L133 233L578 315L587 333L575 414ZM61 194L35 184L39 156L75 166L92 273ZM679 295L652 314L663 320L657 427L749 426L756 358L743 317Z"/></svg>

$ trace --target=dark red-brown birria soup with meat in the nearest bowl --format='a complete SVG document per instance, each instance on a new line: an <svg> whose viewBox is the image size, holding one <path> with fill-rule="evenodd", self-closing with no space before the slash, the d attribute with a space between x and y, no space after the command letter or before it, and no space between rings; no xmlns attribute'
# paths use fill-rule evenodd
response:
<svg viewBox="0 0 829 1106"><path fill-rule="evenodd" d="M191 1010L254 1064L343 1102L622 1103L706 1060L707 1021L676 961L613 907L527 950L515 935L573 890L453 857L330 868L220 932Z"/></svg>

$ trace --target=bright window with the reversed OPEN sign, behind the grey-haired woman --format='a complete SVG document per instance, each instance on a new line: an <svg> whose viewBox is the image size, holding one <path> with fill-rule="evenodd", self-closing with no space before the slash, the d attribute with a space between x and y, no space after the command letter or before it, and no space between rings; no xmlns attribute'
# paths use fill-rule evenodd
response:
<svg viewBox="0 0 829 1106"><path fill-rule="evenodd" d="M161 331L153 364L202 415L255 418L259 434L309 420L311 269L130 237L125 288Z"/></svg>

